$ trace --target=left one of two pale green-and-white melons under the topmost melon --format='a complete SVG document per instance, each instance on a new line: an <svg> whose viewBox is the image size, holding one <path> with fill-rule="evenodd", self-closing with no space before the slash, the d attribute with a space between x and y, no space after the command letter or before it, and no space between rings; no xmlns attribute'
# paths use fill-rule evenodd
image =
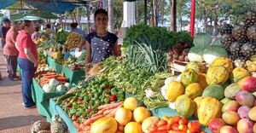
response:
<svg viewBox="0 0 256 133"><path fill-rule="evenodd" d="M198 61L198 62L202 62L204 61L203 58L203 54L204 54L204 49L201 47L192 47L189 50L189 61Z"/></svg>

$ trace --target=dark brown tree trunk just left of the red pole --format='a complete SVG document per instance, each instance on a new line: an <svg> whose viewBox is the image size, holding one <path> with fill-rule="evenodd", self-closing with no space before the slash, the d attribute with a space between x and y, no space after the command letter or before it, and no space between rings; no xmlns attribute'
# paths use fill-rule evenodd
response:
<svg viewBox="0 0 256 133"><path fill-rule="evenodd" d="M177 1L176 0L170 0L171 3L171 31L176 32L177 31Z"/></svg>

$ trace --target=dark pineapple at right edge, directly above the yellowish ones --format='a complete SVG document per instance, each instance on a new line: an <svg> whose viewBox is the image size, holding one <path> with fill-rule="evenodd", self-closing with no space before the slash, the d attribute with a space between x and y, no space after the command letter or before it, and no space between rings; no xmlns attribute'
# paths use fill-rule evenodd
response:
<svg viewBox="0 0 256 133"><path fill-rule="evenodd" d="M251 57L252 55L256 54L256 43L244 43L241 47L242 55L246 56L247 58Z"/></svg>

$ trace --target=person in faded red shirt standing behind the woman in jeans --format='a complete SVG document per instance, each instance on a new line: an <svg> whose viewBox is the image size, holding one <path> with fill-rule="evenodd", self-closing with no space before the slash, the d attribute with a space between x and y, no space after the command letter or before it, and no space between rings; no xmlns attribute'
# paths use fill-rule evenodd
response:
<svg viewBox="0 0 256 133"><path fill-rule="evenodd" d="M6 58L9 79L13 81L20 80L20 78L16 75L19 51L15 47L15 42L18 31L20 31L20 22L12 22L12 26L9 29L9 32L6 34L6 43L3 47L3 55Z"/></svg>

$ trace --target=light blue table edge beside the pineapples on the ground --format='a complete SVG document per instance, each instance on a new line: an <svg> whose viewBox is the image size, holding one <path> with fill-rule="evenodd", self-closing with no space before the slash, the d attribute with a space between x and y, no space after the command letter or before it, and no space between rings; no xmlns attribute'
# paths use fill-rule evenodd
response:
<svg viewBox="0 0 256 133"><path fill-rule="evenodd" d="M57 105L52 98L49 100L49 111L51 115L58 114L61 119L67 124L68 130L71 133L77 133L77 129L73 126L72 119L68 117L67 113L65 113L65 111L59 105Z"/></svg>

